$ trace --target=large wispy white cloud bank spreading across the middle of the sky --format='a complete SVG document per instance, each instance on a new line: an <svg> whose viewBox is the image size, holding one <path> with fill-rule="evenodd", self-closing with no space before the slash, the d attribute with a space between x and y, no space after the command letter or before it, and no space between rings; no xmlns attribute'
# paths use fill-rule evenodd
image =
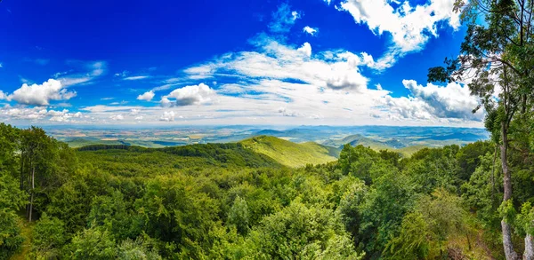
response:
<svg viewBox="0 0 534 260"><path fill-rule="evenodd" d="M271 38L256 42L258 51L227 53L198 67L184 72L194 77L213 75L242 76L245 79L297 80L316 87L336 90L367 88L368 78L360 73L360 67L383 69L388 64L375 61L365 52L322 51L312 56L310 43L296 48L280 44Z"/></svg>

